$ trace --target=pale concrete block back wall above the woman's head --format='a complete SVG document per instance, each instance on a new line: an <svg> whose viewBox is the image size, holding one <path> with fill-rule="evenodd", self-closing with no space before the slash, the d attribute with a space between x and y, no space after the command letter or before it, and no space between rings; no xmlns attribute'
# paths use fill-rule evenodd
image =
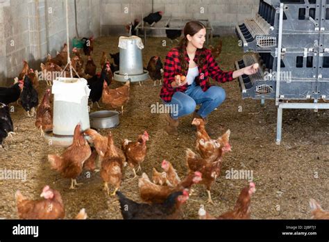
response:
<svg viewBox="0 0 329 242"><path fill-rule="evenodd" d="M233 34L235 25L255 16L259 0L153 0L153 10L164 11L164 17L209 19L215 34ZM126 13L124 10L130 10ZM101 0L102 35L124 33L124 24L142 19L152 11L151 0ZM173 23L174 25L174 23ZM153 31L165 36L165 31Z"/></svg>

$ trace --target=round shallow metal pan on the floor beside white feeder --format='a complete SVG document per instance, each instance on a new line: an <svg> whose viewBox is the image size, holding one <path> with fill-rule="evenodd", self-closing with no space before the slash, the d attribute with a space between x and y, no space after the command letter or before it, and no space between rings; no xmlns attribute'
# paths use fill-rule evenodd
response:
<svg viewBox="0 0 329 242"><path fill-rule="evenodd" d="M90 113L90 127L94 129L110 129L119 125L119 113L117 111L97 111Z"/></svg>

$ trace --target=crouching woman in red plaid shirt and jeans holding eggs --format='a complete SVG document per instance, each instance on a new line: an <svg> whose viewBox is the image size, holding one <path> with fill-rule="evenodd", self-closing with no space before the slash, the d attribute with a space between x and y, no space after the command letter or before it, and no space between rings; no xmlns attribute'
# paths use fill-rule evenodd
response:
<svg viewBox="0 0 329 242"><path fill-rule="evenodd" d="M251 65L235 72L223 72L211 51L203 48L205 33L205 26L201 22L188 22L183 40L167 54L160 97L171 106L171 110L174 106L178 107L178 112L171 112L167 117L168 134L177 136L178 118L193 113L199 104L201 108L197 113L194 112L194 118L203 118L207 124L208 115L225 100L223 88L210 86L209 77L224 83L242 74L250 75L258 71ZM180 76L186 76L185 80L180 79ZM212 133L210 129L207 131Z"/></svg>

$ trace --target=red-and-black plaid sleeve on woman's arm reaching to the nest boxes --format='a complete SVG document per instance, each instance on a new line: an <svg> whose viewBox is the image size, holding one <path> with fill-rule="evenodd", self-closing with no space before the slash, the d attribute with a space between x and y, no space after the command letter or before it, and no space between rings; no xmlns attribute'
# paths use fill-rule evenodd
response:
<svg viewBox="0 0 329 242"><path fill-rule="evenodd" d="M215 61L214 57L211 54L211 51L207 51L207 62L208 62L208 71L212 79L224 83L226 81L233 81L233 71L224 72L219 68L219 65Z"/></svg>

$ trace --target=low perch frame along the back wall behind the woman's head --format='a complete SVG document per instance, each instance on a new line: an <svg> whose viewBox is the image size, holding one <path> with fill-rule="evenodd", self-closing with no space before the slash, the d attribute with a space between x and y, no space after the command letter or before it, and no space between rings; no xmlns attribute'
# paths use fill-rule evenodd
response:
<svg viewBox="0 0 329 242"><path fill-rule="evenodd" d="M144 31L144 45L146 45L146 35L148 30L151 29L156 29L156 30L182 30L184 29L184 26L187 22L192 21L192 20L197 20L205 25L205 29L207 30L207 35L206 35L206 44L209 44L209 39L210 39L210 44L212 44L212 32L214 29L212 28L212 24L209 19L179 19L179 18L174 18L174 17L162 17L162 19L157 22L153 23L151 25L145 25L144 21L141 21L136 27L136 35L138 36L140 31ZM174 27L167 27L167 25L174 24Z"/></svg>

